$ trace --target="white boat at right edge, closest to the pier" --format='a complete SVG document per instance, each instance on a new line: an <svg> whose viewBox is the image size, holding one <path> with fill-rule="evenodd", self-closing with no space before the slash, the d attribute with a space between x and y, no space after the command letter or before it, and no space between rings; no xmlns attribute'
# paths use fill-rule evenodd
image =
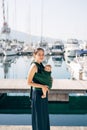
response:
<svg viewBox="0 0 87 130"><path fill-rule="evenodd" d="M72 79L87 80L87 56L77 56L69 66Z"/></svg>

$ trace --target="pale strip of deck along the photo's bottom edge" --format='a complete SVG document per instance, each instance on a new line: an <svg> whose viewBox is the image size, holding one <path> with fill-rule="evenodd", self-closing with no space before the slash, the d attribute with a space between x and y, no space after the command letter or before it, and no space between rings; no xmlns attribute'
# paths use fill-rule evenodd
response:
<svg viewBox="0 0 87 130"><path fill-rule="evenodd" d="M0 130L32 130L31 126L0 126ZM51 130L87 130L87 127L51 126Z"/></svg>

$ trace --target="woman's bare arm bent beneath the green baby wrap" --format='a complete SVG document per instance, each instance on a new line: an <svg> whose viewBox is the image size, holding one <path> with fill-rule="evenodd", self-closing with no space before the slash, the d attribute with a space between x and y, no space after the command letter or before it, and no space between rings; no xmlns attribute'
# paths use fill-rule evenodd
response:
<svg viewBox="0 0 87 130"><path fill-rule="evenodd" d="M34 74L36 72L37 72L37 66L35 64L32 64L31 67L30 67L30 70L28 72L28 77L27 77L28 85L36 87L36 88L46 87L48 89L48 87L46 85L42 85L42 84L38 84L38 83L33 82L33 77L34 77Z"/></svg>

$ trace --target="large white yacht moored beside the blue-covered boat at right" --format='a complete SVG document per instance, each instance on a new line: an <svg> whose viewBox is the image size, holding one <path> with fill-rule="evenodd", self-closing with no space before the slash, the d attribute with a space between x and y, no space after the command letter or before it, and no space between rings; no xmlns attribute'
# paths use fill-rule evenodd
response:
<svg viewBox="0 0 87 130"><path fill-rule="evenodd" d="M65 44L65 54L66 56L74 57L76 56L76 51L80 50L79 42L77 39L69 39Z"/></svg>

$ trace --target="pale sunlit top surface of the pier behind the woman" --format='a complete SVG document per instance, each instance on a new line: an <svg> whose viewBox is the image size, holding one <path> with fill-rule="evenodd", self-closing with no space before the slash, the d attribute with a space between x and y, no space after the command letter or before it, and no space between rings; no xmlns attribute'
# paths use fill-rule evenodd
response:
<svg viewBox="0 0 87 130"><path fill-rule="evenodd" d="M26 79L0 79L0 92L3 91L29 91ZM87 90L87 81L54 79L52 90L61 91L85 91ZM51 90L51 91L52 91Z"/></svg>

